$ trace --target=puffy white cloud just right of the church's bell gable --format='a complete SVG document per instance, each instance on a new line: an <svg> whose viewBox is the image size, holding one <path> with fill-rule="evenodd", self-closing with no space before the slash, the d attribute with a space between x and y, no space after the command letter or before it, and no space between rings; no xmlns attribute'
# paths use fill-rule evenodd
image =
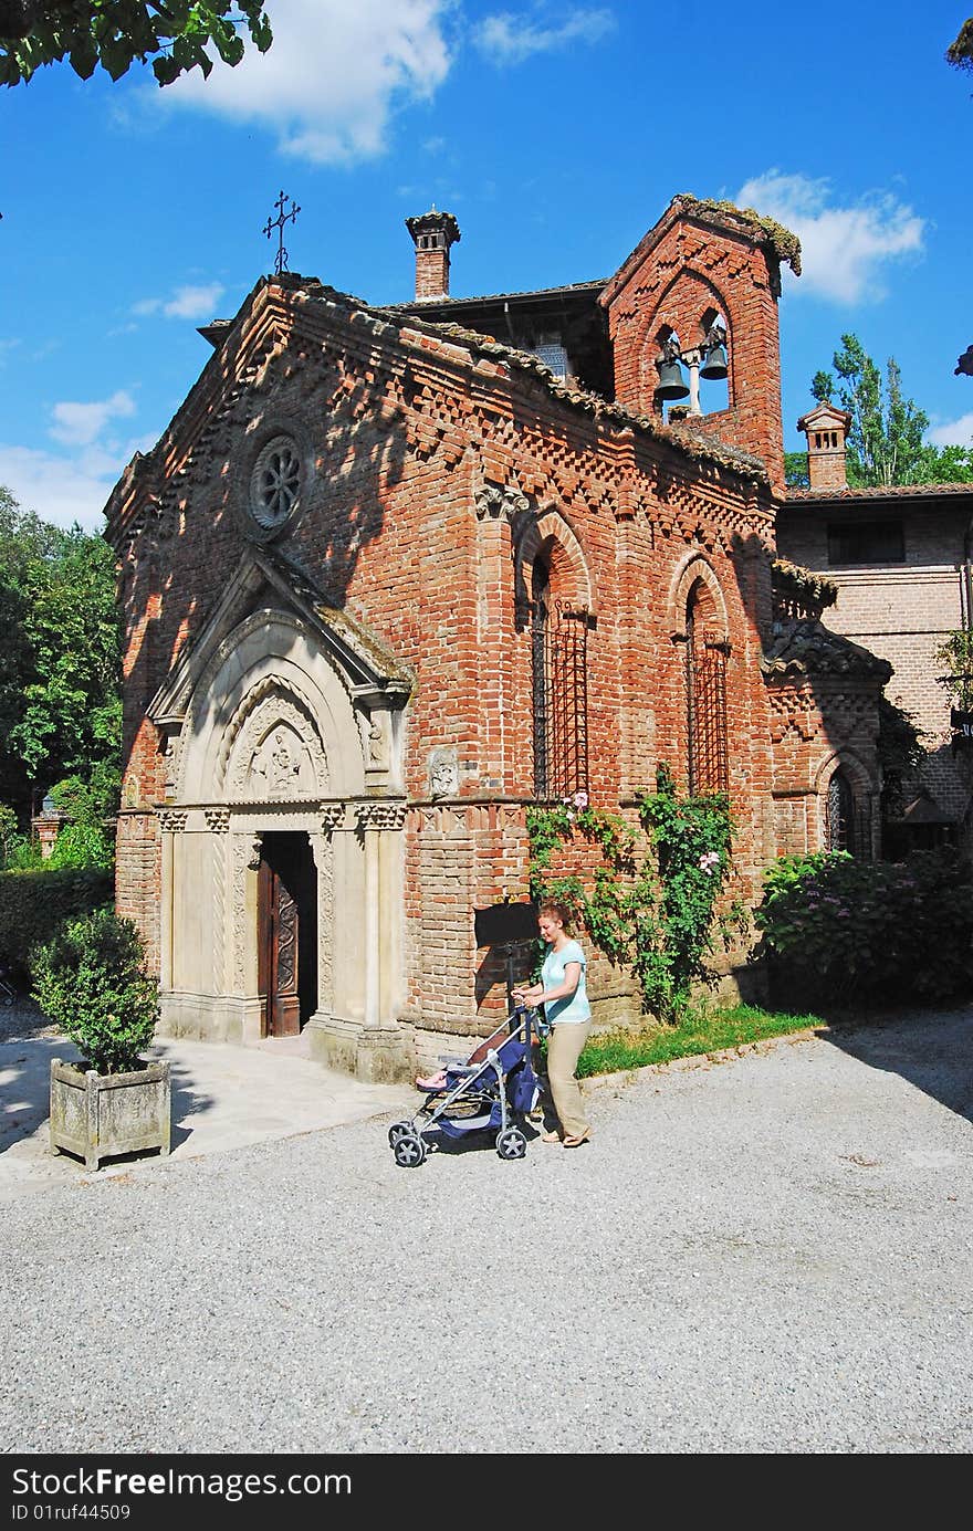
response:
<svg viewBox="0 0 973 1531"><path fill-rule="evenodd" d="M792 291L834 303L883 299L886 263L922 250L922 219L887 191L838 207L829 181L769 170L740 187L734 201L775 217L800 237L803 271Z"/></svg>

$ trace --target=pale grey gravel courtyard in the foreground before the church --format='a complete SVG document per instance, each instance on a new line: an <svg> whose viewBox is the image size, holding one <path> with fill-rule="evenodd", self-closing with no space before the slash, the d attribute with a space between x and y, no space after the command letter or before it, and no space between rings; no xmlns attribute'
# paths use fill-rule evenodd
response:
<svg viewBox="0 0 973 1531"><path fill-rule="evenodd" d="M15 1200L3 1450L970 1451L971 1040L602 1084L515 1164L382 1118Z"/></svg>

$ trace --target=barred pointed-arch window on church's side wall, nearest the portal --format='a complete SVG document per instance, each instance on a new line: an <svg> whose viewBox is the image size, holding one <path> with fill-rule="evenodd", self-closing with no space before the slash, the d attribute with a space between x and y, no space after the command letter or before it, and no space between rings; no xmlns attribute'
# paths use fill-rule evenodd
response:
<svg viewBox="0 0 973 1531"><path fill-rule="evenodd" d="M552 599L542 557L532 596L533 790L549 801L588 790L588 614Z"/></svg>

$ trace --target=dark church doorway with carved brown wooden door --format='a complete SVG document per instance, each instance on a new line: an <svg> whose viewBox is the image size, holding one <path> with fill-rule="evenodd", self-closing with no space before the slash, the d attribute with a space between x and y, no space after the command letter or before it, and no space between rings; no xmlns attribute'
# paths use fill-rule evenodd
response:
<svg viewBox="0 0 973 1531"><path fill-rule="evenodd" d="M257 874L257 981L267 1036L296 1036L317 1006L316 925L306 834L265 834Z"/></svg>

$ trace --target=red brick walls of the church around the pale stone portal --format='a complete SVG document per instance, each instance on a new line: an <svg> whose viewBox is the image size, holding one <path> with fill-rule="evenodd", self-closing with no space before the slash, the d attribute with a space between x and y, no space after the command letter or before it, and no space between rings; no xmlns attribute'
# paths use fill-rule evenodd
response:
<svg viewBox="0 0 973 1531"><path fill-rule="evenodd" d="M501 357L287 289L257 297L238 344L233 367L227 354L213 358L159 449L164 472L130 485L112 525L116 545L129 527L135 548L118 897L153 949L158 850L146 810L162 799L165 759L144 709L239 562L238 461L248 430L271 416L302 423L316 462L283 551L415 675L405 733L409 1018L463 1030L503 992L503 974L483 969L475 951L472 909L527 894L530 628L518 622L515 588L516 550L538 516L561 542L553 579L591 605L590 784L604 807L651 788L659 761L685 782L676 591L693 553L711 568L729 641L734 860L739 890L754 891L775 850L760 674L766 487L564 401ZM434 804L429 752L444 746L457 750L458 798ZM625 989L595 963L596 997Z"/></svg>

